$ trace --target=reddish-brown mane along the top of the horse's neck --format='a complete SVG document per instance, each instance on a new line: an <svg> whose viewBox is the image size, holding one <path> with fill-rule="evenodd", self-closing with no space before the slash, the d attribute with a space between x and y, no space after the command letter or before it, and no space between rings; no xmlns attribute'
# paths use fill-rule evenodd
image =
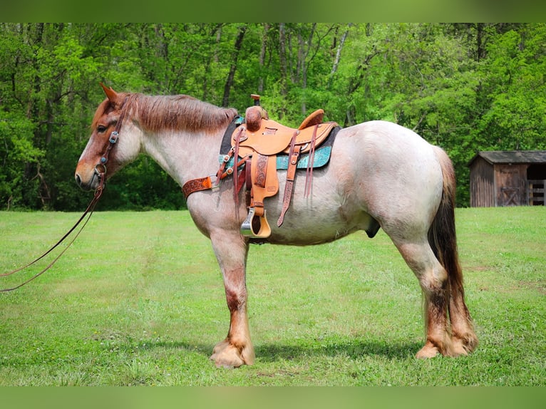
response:
<svg viewBox="0 0 546 409"><path fill-rule="evenodd" d="M130 112L146 130L214 132L225 128L237 115L233 108L220 108L188 95L128 95Z"/></svg>

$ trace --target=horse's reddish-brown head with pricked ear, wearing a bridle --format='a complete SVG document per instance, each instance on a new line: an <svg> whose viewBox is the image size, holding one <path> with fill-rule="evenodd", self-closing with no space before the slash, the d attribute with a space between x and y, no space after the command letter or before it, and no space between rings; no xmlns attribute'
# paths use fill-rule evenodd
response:
<svg viewBox="0 0 546 409"><path fill-rule="evenodd" d="M129 132L125 126L130 125L130 120L125 120L125 123L123 121L128 110L128 95L116 93L102 83L101 86L107 98L96 110L91 125L91 138L76 166L76 183L83 190L96 189L100 185L101 177L112 176L138 155L138 147L129 143ZM122 127L127 132L122 133Z"/></svg>

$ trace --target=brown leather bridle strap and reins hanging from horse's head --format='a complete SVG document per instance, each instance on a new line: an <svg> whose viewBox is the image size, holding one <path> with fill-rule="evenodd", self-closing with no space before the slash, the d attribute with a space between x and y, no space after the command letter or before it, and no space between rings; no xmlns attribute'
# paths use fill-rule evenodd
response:
<svg viewBox="0 0 546 409"><path fill-rule="evenodd" d="M101 198L101 195L103 195L103 190L104 190L104 187L105 187L106 163L108 162L108 156L110 155L110 150L112 150L114 145L118 142L121 125L123 123L123 119L125 118L125 112L127 111L127 109L125 108L125 102L126 101L127 101L127 99L125 99L125 101L123 103L122 110L121 110L121 113L120 113L120 118L118 119L118 122L115 124L114 130L112 131L112 133L110 133L110 138L108 138L108 145L105 148L105 152L102 155L101 160L95 165L95 175L96 175L96 177L98 177L99 184L98 184L98 187L95 190L95 195L93 195L93 199L89 203L86 211L83 212L83 214L78 219L76 224L74 224L73 227L70 230L68 230L68 232L66 232L66 234L64 234L64 236L61 237L61 239L58 240L58 242L56 242L56 244L53 244L53 246L50 249L48 249L47 252L43 253L40 257L34 259L34 261L30 262L29 264L26 264L26 265L24 265L22 267L19 267L19 269L9 271L9 273L0 274L0 277L11 276L11 274L15 274L15 273L17 273L19 271L27 269L28 267L32 266L33 264L35 264L39 260L43 259L43 257L46 257L49 253L51 253L53 251L53 249L58 247L59 244L64 242L64 240L68 236L70 236L70 234L76 229L76 227L78 227L78 225L87 216L86 221L81 225L81 227L78 230L78 232L76 233L76 235L73 237L73 239L71 239L70 242L68 242L68 245L63 249L63 251L60 254L58 254L58 256L55 257L55 259L53 259L53 261L51 263L49 263L44 269L42 269L38 273L34 274L34 276L32 276L30 279L24 281L23 283L21 283L21 284L19 284L17 286L11 287L11 288L0 289L0 292L7 292L7 291L13 291L15 289L19 289L20 287L24 286L25 284L28 284L29 282L31 282L34 279L38 278L38 276L41 276L43 273L45 273L48 269L51 268L51 266L53 266L53 264L55 264L57 262L58 259L61 258L61 256L66 252L66 250L68 250L68 247L71 247L73 242L76 241L76 239L80 235L81 231L83 230L83 227L86 227L87 222L89 221L89 219L91 219L91 215L93 214L93 210L95 210L95 207L96 207L96 205L98 203L98 200Z"/></svg>

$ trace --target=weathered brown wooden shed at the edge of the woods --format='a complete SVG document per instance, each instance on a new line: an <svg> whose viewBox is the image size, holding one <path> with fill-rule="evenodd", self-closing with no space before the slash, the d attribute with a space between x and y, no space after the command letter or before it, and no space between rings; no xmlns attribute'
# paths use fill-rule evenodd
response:
<svg viewBox="0 0 546 409"><path fill-rule="evenodd" d="M470 167L470 206L545 205L546 150L478 152Z"/></svg>

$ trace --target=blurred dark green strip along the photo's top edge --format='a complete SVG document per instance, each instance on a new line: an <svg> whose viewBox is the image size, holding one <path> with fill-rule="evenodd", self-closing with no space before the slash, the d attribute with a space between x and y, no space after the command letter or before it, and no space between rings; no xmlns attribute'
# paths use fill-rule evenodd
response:
<svg viewBox="0 0 546 409"><path fill-rule="evenodd" d="M4 22L540 22L536 0L2 1Z"/></svg>

